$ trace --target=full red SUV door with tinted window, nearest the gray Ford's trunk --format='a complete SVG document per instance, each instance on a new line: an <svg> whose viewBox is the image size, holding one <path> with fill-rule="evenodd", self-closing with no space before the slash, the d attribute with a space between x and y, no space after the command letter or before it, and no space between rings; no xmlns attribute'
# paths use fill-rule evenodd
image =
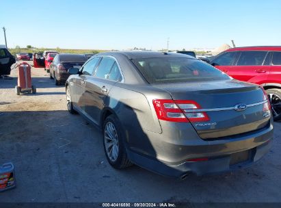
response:
<svg viewBox="0 0 281 208"><path fill-rule="evenodd" d="M267 51L241 51L235 64L226 73L234 79L263 84L270 70L267 57L270 57Z"/></svg>

